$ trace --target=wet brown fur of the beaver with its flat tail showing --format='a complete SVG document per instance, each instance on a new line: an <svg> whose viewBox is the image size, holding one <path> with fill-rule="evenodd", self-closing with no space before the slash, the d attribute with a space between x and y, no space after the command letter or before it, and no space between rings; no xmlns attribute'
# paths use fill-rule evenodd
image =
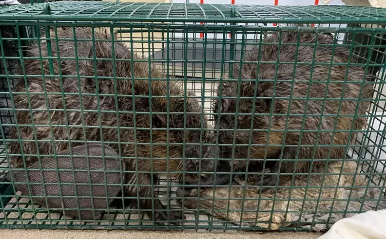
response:
<svg viewBox="0 0 386 239"><path fill-rule="evenodd" d="M58 29L59 38L71 38L73 39L73 29L65 28ZM63 76L75 75L75 77L64 77L62 79L63 88L60 86L60 77L45 77L45 82L43 81L41 75L41 69L44 69L44 74L50 74L49 71L49 62L47 59L42 62L39 59L27 59L24 60L25 65L25 74L26 75L38 75L36 77L27 77L26 85L24 80L21 80L20 83L16 86L14 90L14 101L16 109L27 109L25 111L17 111L16 118L19 125L46 125L46 126L35 126L35 127L26 127L19 126L19 132L14 127L10 133L10 139L22 139L22 140L50 140L49 142L38 143L36 141L32 142L23 142L22 143L22 152L24 154L54 154L55 152L66 150L69 147L68 141L102 141L108 142L110 147L113 147L118 152L118 141L121 142L120 145L120 155L124 157L137 157L136 159L127 159L125 161L127 170L136 170L138 167L139 171L151 171L153 164L153 170L164 172L166 174L168 170L167 162L165 158L167 157L167 146L166 145L154 145L150 147L150 130L148 129L136 129L136 133L133 129L126 129L123 127L136 127L136 128L165 128L165 129L153 129L153 143L167 143L167 101L166 98L157 98L153 97L151 100L152 107L151 110L154 112L152 116L152 123L150 125L150 116L149 114L140 114L141 112L149 112L149 98L135 97L135 124L134 124L134 114L133 113L116 113L116 110L120 111L133 111L133 97L132 95L149 95L149 81L148 80L135 80L134 87L132 85L132 74L135 78L149 78L149 64L148 62L135 62L132 65L131 61L122 61L120 59L130 60L132 55L131 52L126 48L123 43L116 42L114 46L115 51L115 65L111 60L113 55L113 48L111 43L111 36L104 31L95 31L96 39L106 39L107 41L96 41L95 46L91 41L81 41L80 39L92 39L92 32L87 28L76 28L76 38L77 38L77 49L75 49L74 40L60 40L58 42L60 57L91 57L93 58L94 54L97 58L110 58L109 60L83 60L79 59L78 62L74 59L61 59L60 68L58 60L53 60L54 73L62 74ZM52 41L52 55L57 57L57 47L56 41ZM45 43L40 44L41 55L47 56L47 45ZM95 49L95 51L94 51ZM77 54L76 54L77 53ZM29 56L39 57L39 48L37 46L32 47L28 50ZM141 59L136 55L133 55L135 60ZM143 59L142 59L143 60ZM146 60L146 59L145 59ZM41 65L42 64L42 68ZM97 73L94 71L94 64L96 64ZM114 75L113 67L115 67L116 75ZM127 77L129 79L102 79L99 78L98 83L98 92L96 87L95 78L77 78L77 68L79 70L79 75L81 76L116 76L116 77ZM133 68L133 69L132 69ZM21 74L23 74L22 69L20 69ZM165 78L154 65L151 65L150 77L152 79L156 78ZM80 84L80 89L78 84ZM44 88L46 88L47 96L44 95ZM134 92L133 92L134 88ZM27 96L20 95L17 92L28 92L30 93L28 102ZM82 96L79 97L79 90L81 90ZM114 93L118 95L116 98ZM200 105L198 101L194 98L188 98L186 104L186 111L188 112L187 116L183 115L184 112L184 90L182 86L174 81L170 81L169 87L167 87L167 82L165 80L153 80L151 81L151 95L152 96L166 96L169 91L170 95L170 112L179 112L177 114L170 114L169 127L170 128L183 128L184 119L186 119L186 128L196 128L198 130L186 130L185 131L185 141L189 143L200 143L200 128L207 128L207 119L204 118L204 121L201 121L200 114L189 114L189 113L198 113L201 112ZM63 105L63 98L61 93L75 93L67 94L64 96L65 108ZM59 94L53 94L59 93ZM97 104L97 96L95 95L86 95L89 93L99 93L99 94L112 94L112 96L99 96L99 106ZM125 96L122 96L125 95ZM193 95L192 92L189 92L189 95ZM181 97L173 97L181 96ZM49 104L49 113L47 112L46 105ZM80 101L81 100L81 101ZM30 108L31 107L31 108ZM33 121L30 116L30 110L32 109ZM43 110L43 111L38 111ZM63 110L74 110L64 112ZM84 112L83 110L110 110L110 112L101 112L98 115L98 112ZM158 112L163 112L164 114L159 114ZM117 122L117 117L119 123ZM66 117L68 118L66 120ZM51 120L52 126L50 126L49 118ZM84 118L84 120L83 120ZM69 125L67 127L62 127ZM77 126L90 126L86 127L77 127ZM61 125L61 126L58 126ZM119 126L119 133L117 130ZM103 128L103 127L112 127L112 128ZM36 130L36 136L34 135L34 130ZM203 137L203 142L207 142L209 139L209 132L204 131L205 134ZM19 136L20 134L20 136ZM51 136L53 135L53 137ZM84 137L85 136L85 137ZM135 146L133 142L137 143L148 143L148 145L137 145ZM170 143L183 143L184 132L182 130L169 130L169 142ZM64 140L66 142L55 142L55 145L51 140ZM127 144L129 143L129 144ZM38 148L36 147L38 144ZM72 147L77 145L84 145L84 143L72 142ZM19 142L11 142L8 145L10 148L11 154L20 154L21 148ZM39 150L38 150L39 149ZM213 150L214 151L214 150ZM153 152L153 158L163 158L163 159L154 159L151 160L151 152ZM170 145L169 146L169 170L170 171L192 171L198 170L199 160L187 159L185 161L185 168L183 168L183 146L182 145ZM186 157L194 158L199 157L199 146L186 146ZM212 149L211 147L203 146L202 147L202 157L212 158ZM147 159L144 159L147 158ZM176 159L173 159L176 158ZM14 167L24 167L28 166L38 160L36 156L25 156L25 165L21 156L12 156L12 163ZM153 161L153 163L152 163ZM137 162L137 163L136 163ZM202 170L211 170L212 161L202 160ZM162 174L162 173L161 173ZM182 174L170 174L171 177L179 179ZM156 175L154 175L156 176ZM197 181L197 175L188 174L185 178L187 182ZM138 182L137 182L138 181ZM128 185L125 188L125 193L129 196L137 196L137 191L139 192L140 197L151 197L153 193L153 188L151 187L152 175L150 173L126 173L125 183L126 184L148 184L149 186L139 186L137 188L135 185ZM166 209L164 205L159 200L154 201L155 205L155 220L166 220L167 211L159 211L159 209ZM152 209L152 200L141 200L141 208ZM151 213L150 213L151 214ZM150 215L149 214L149 215ZM170 213L170 220L180 219L181 215L177 215L173 212Z"/></svg>

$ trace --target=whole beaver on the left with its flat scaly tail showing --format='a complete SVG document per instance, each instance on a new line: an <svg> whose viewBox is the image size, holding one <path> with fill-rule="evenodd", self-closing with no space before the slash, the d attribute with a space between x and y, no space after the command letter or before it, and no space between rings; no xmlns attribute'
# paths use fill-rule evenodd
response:
<svg viewBox="0 0 386 239"><path fill-rule="evenodd" d="M124 193L129 197L135 197L137 194L142 195L142 197L151 197L154 193L154 188L152 187L152 184L155 182L154 180L169 171L171 172L170 177L179 179L182 177L182 174L179 173L182 170L187 172L197 171L198 166L202 167L204 172L212 170L212 147L192 145L192 143L197 144L210 141L212 137L211 132L208 130L200 133L201 127L207 129L207 119L206 117L201 118L197 114L201 111L201 108L198 101L194 98L193 92L187 92L189 98L184 103L185 91L181 84L175 81L166 82L162 80L165 77L157 67L149 69L148 63L146 61L143 62L144 58L132 54L123 43L116 42L113 47L113 40L109 33L107 33L107 30L101 29L101 31L95 30L94 32L91 28L77 27L75 28L75 37L72 28L61 28L57 30L56 34L58 34L60 39L73 40L58 41L58 45L52 44L50 47L48 47L47 43L51 41L39 42L39 47L37 45L28 47L26 54L30 58L23 60L24 67L19 67L19 73L32 76L26 77L25 82L20 81L15 86L15 92L19 92L14 93L13 107L17 109L15 118L17 119L17 125L31 126L13 127L9 135L9 139L15 140L7 145L13 167L13 173L10 175L10 178L13 182L27 184L24 187L22 187L23 184L15 184L15 187L24 194L29 192L30 196L48 197L46 200L32 198L32 201L38 204L51 208L61 207L63 212L70 212L67 215L77 215L81 219L95 218L96 214L88 213L87 210L80 211L79 209L92 207L106 210L109 202L103 200L97 202L97 197L104 196L106 199L116 197L116 186L106 189L106 195L99 195L101 190L97 190L95 193L94 191L90 192L87 187L76 187L77 189L74 189L71 186L64 186L64 188L62 186L60 189L60 186L51 184L45 186L43 184L43 188L41 188L41 185L32 185L30 186L31 189L29 189L28 177L32 181L41 180L43 182L55 183L60 178L60 183L84 184L86 182L78 181L88 178L87 171L76 172L76 176L78 175L79 177L78 180L77 177L72 179L68 176L68 172L60 171L58 178L54 178L48 173L47 175L42 175L43 178L37 178L39 174L34 173L34 171L28 172L28 176L20 176L20 173L25 172L17 170L19 168L39 168L40 155L55 154L51 161L44 159L41 162L41 167L44 170L52 170L52 165L55 164L56 158L58 157L58 161L66 160L66 158L62 158L62 155L71 152L68 151L71 148L72 150L77 149L78 152L84 154L88 148L87 144L83 143L84 140L108 142L105 144L114 148L116 152L120 152L119 160L121 160L121 157L124 158L122 167L119 164L113 164L113 168L105 168L101 164L102 161L94 160L97 157L95 152L85 156L90 157L92 170L97 168L100 170L115 170L116 172L114 173L104 172L103 175L106 179L103 182L106 185L119 184L122 183L121 181L124 184L129 184L128 186L122 185ZM97 40L91 41L93 37L97 38ZM37 59L41 56L48 57L48 55L62 57L60 64L58 64L59 60L50 62L49 59L43 59L42 61ZM112 57L115 62L111 60L94 61L93 55L96 58L102 59ZM71 57L75 57L75 59L68 59ZM90 59L77 60L76 57ZM134 59L133 62L130 59ZM96 65L93 66L93 64ZM59 77L42 76L47 74L47 70L48 72L52 71L51 74L53 75L59 75ZM74 77L79 72L82 74L80 79ZM94 78L88 78L88 76L93 75ZM117 78L133 77L133 79L139 79L115 81L115 79L109 78L111 75L115 75ZM149 82L146 79L149 76L157 80ZM61 91L63 94L58 94ZM79 96L76 93L82 95ZM29 97L26 97L24 94L27 94ZM111 94L115 94L115 96L111 96ZM153 97L153 99L149 100L134 95L148 95L148 97ZM167 95L170 96L169 100L165 99ZM120 111L118 116L116 113L109 112L116 110L116 107ZM31 108L34 109L34 112L32 112ZM45 108L47 110L39 110ZM170 119L166 115L168 109L173 113ZM82 110L82 112L80 113L79 110ZM102 112L96 113L93 112L94 110ZM133 111L136 114L121 111ZM154 113L143 113L149 111ZM185 114L183 114L184 111L186 112ZM186 122L186 127L190 129L184 130L182 133L181 130L183 129L184 122ZM63 123L67 124L67 127L61 127L60 125ZM82 124L85 125L84 128L80 129L77 127ZM44 125L50 125L49 129ZM165 131L169 125L172 130L170 134L167 134ZM149 130L146 128L149 128ZM152 128L154 128L153 131ZM168 138L169 142L167 141ZM18 142L20 139L32 139L37 142L25 141L20 144ZM63 142L64 139L67 140ZM183 142L188 144L186 150L183 149L183 146L179 145ZM170 143L170 146L167 143ZM99 147L102 148L99 151L97 150L97 152L103 152L103 143ZM114 150L109 151L113 152ZM28 152L29 155L26 155L24 152ZM116 155L107 152L102 157L118 160ZM91 152L89 151L89 153ZM183 161L180 160L182 153L187 157ZM34 154L35 156L32 156ZM198 162L194 159L201 154L202 157L209 160ZM165 160L167 156L169 159ZM154 161L154 164L153 158L157 159ZM39 164L37 165L37 163ZM59 166L59 169L63 169L62 167L63 165ZM156 173L122 173L122 170L125 171L126 168L130 171L154 171ZM88 168L87 165L78 164L76 169L86 170ZM120 178L114 176L117 173L121 174ZM62 179L62 177L65 177L64 174L67 175L68 179ZM93 174L89 175L89 177L97 180L92 181L93 184L101 183L98 179L101 180L102 178L93 176ZM195 177L205 177L205 173L201 175L187 174L184 179L187 182L195 182ZM47 192L45 192L44 187L48 188ZM74 207L74 198L64 199L61 202L52 198L52 196L62 194L77 197L77 193L82 196L91 196L91 200L85 199L83 200L84 202L78 202L77 212L72 212L73 209L69 209ZM93 200L93 196L95 196L95 200ZM72 201L70 202L71 199ZM181 220L181 217L183 217L178 212L168 212L165 210L165 206L157 199L138 199L137 203L140 210L149 210L153 207L153 203L155 203L154 207L158 208L156 212L148 212L147 214L151 219L154 218L156 222L170 219L174 221L171 223L179 223L178 220ZM100 210L93 212L97 213L98 211Z"/></svg>

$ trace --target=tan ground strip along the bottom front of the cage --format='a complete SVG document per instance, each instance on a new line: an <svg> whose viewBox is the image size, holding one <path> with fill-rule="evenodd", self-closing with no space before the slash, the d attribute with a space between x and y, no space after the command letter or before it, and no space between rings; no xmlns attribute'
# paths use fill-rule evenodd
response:
<svg viewBox="0 0 386 239"><path fill-rule="evenodd" d="M317 239L322 233L310 232L166 232L166 231L89 231L89 230L0 230L1 239Z"/></svg>

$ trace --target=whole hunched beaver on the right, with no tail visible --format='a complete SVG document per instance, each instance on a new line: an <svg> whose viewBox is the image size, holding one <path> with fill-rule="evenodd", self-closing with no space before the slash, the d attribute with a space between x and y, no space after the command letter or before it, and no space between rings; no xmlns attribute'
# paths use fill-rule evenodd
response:
<svg viewBox="0 0 386 239"><path fill-rule="evenodd" d="M228 145L220 145L220 158L234 155L236 172L245 172L247 165L249 172L269 168L263 179L253 177L261 191L282 185L290 174L343 159L357 130L367 126L373 97L365 67L349 65L355 58L331 34L295 29L276 32L263 43L245 53L241 70L234 65L232 78L241 80L220 84L222 98L213 108L218 143ZM231 162L220 168L229 171ZM280 173L286 175L279 178ZM229 175L216 177L217 184L230 182ZM214 184L213 177L203 184Z"/></svg>

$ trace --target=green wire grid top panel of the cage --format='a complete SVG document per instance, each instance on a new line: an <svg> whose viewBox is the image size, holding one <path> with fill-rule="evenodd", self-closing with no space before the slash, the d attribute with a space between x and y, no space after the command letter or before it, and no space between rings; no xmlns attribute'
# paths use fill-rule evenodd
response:
<svg viewBox="0 0 386 239"><path fill-rule="evenodd" d="M234 13L232 14L232 9ZM0 8L1 20L380 23L386 9L362 6L269 6L58 1Z"/></svg>

